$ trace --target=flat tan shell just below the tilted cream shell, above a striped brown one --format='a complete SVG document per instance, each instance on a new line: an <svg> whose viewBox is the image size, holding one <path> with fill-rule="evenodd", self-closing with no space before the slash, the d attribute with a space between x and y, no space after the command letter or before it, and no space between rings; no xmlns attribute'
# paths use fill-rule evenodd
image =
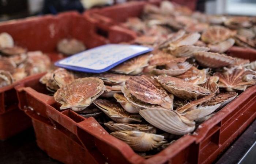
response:
<svg viewBox="0 0 256 164"><path fill-rule="evenodd" d="M199 47L199 46L180 46L176 49L170 51L170 53L176 57L192 57L194 52L198 51L209 51L208 47Z"/></svg>

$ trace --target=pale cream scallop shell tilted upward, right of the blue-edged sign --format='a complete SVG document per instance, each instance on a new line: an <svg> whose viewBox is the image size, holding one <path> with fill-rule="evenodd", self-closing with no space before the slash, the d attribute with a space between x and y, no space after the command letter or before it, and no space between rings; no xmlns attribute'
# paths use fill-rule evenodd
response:
<svg viewBox="0 0 256 164"><path fill-rule="evenodd" d="M197 42L197 40L199 40L200 36L201 35L198 32L192 32L189 34L185 34L180 39L170 43L169 50L174 50L180 46L193 45Z"/></svg>

